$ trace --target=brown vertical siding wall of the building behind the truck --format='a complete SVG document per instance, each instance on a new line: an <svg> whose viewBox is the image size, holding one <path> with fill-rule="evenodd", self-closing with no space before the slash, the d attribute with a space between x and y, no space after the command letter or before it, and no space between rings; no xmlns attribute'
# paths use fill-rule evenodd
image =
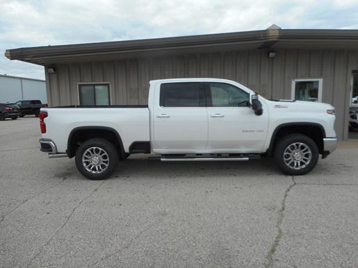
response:
<svg viewBox="0 0 358 268"><path fill-rule="evenodd" d="M358 51L281 49L193 53L103 62L79 62L55 67L46 74L51 106L77 105L78 83L108 82L111 104L146 104L149 81L161 78L213 77L238 81L268 99L291 99L294 78L323 78L323 101L337 111L336 131L348 138L348 107L352 70Z"/></svg>

